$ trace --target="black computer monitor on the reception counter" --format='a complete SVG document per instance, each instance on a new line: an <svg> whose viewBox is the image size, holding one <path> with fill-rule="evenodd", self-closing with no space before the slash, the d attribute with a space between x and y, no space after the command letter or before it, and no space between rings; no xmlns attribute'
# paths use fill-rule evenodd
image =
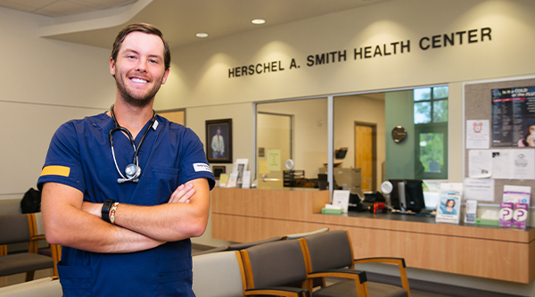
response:
<svg viewBox="0 0 535 297"><path fill-rule="evenodd" d="M390 179L391 204L396 210L420 212L425 209L424 182L421 179Z"/></svg>

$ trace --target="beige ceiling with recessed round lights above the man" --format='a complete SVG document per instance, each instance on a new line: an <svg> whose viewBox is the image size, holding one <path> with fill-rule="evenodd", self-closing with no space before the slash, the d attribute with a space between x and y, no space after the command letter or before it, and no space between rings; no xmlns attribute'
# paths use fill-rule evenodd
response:
<svg viewBox="0 0 535 297"><path fill-rule="evenodd" d="M0 0L0 6L44 15L40 30L50 37L111 48L119 29L131 22L152 23L171 48L254 29L300 21L391 0ZM265 19L264 25L251 20Z"/></svg>

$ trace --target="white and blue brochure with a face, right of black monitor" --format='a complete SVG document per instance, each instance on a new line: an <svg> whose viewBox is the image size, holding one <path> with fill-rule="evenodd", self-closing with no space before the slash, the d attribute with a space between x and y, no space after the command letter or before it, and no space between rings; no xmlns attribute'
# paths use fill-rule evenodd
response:
<svg viewBox="0 0 535 297"><path fill-rule="evenodd" d="M442 223L459 223L461 212L462 183L440 184L439 205L435 220Z"/></svg>

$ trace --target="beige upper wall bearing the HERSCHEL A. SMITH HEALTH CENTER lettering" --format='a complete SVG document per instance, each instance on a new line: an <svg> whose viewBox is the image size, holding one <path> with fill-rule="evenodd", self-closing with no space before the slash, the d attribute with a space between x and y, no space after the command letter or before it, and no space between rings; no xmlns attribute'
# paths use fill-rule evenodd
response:
<svg viewBox="0 0 535 297"><path fill-rule="evenodd" d="M307 21L205 40L176 49L175 71L158 104L199 106L416 87L533 73L535 3L393 0ZM421 37L492 29L485 40L420 50ZM352 58L352 49L410 39L406 54ZM308 67L309 54L347 50L346 62ZM292 58L299 69L289 69ZM233 67L281 61L284 71L228 78Z"/></svg>

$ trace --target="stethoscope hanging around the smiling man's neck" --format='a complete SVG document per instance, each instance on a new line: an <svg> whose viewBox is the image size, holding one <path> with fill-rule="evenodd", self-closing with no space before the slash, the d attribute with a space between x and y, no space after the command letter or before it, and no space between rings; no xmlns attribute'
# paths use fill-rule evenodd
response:
<svg viewBox="0 0 535 297"><path fill-rule="evenodd" d="M113 162L115 163L115 168L117 169L117 172L119 172L119 175L121 178L117 179L118 184L122 184L128 181L131 181L133 183L137 183L139 181L139 177L141 176L141 167L139 167L139 160L137 158L137 153L139 153L139 148L141 147L141 144L143 144L145 136L149 133L149 130L154 126L154 123L156 122L156 112L152 111L152 120L149 123L149 126L145 129L143 136L141 137L141 140L139 141L139 144L134 142L134 137L132 137L132 134L130 131L128 131L128 128L120 127L119 122L117 119L115 119L115 113L113 112L113 105L111 105L110 109L111 113L111 119L113 119L113 125L114 127L111 128L109 137L110 137L110 146L111 146L111 154L113 155ZM154 127L155 129L156 127ZM134 147L134 159L132 160L132 163L128 164L127 168L125 169L125 175L123 175L120 170L119 166L117 165L117 160L115 159L115 150L113 149L113 132L115 131L122 131L130 140L130 144ZM125 177L126 176L126 177Z"/></svg>

